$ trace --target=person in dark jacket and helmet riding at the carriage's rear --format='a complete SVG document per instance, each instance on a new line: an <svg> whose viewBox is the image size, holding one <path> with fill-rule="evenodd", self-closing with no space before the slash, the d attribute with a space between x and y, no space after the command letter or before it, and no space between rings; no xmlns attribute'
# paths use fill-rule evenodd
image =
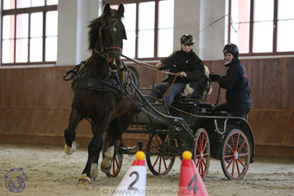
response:
<svg viewBox="0 0 294 196"><path fill-rule="evenodd" d="M225 67L228 67L226 75L216 77L216 81L226 89L226 102L216 106L215 111L227 111L234 116L245 116L251 110L252 100L249 88L249 80L241 61L239 61L239 49L237 45L225 45L223 50Z"/></svg>

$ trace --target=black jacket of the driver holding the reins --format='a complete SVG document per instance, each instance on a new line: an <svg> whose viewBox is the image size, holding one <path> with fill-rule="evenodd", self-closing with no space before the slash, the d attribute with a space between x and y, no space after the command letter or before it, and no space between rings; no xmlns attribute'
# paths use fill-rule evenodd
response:
<svg viewBox="0 0 294 196"><path fill-rule="evenodd" d="M185 84L199 80L204 77L204 65L200 58L191 51L186 53L183 50L172 53L165 60L161 61L163 66L160 69L170 69L170 72L178 73L184 71L187 77L177 77L175 83L183 82ZM168 75L164 82L172 83L175 76Z"/></svg>

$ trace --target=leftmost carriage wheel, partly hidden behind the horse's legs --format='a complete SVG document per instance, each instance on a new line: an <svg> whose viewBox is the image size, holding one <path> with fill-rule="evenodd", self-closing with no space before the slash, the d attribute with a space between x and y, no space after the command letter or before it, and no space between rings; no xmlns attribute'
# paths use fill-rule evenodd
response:
<svg viewBox="0 0 294 196"><path fill-rule="evenodd" d="M110 172L106 173L106 176L108 177L116 177L119 174L120 168L122 166L122 161L123 161L123 154L119 153L119 143L122 142L122 138L118 140L118 143L114 145L114 155L113 159L111 160L111 167L110 167ZM102 149L102 156L104 157L105 151L108 150L110 147L110 135L106 135L106 138L103 142L103 149Z"/></svg>

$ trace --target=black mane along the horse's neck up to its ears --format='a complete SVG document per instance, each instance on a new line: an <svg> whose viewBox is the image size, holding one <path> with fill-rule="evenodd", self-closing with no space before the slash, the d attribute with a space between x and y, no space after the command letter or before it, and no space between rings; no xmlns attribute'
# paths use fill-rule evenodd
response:
<svg viewBox="0 0 294 196"><path fill-rule="evenodd" d="M102 26L102 22L105 20L108 20L110 18L112 19L118 19L121 20L121 18L124 17L123 12L119 12L117 10L113 9L104 9L104 12L100 17L98 17L95 20L90 21L88 28L89 33L88 33L88 42L89 42L89 50L94 51L95 45L99 40L97 40L97 35L99 35L99 29Z"/></svg>

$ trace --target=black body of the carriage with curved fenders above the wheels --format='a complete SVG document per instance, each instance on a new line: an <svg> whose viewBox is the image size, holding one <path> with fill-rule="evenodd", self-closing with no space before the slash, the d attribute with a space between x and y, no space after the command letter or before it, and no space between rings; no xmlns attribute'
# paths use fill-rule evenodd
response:
<svg viewBox="0 0 294 196"><path fill-rule="evenodd" d="M152 106L160 113L167 115L167 110L163 103L154 103ZM253 162L254 136L245 118L215 116L211 104L200 102L174 102L172 106L170 114L174 117L184 118L185 122L192 129L192 135L195 135L196 131L200 128L204 128L208 132L212 158L222 159L221 149L226 135L230 131L238 129L248 137L251 155L250 163ZM192 143L194 139L191 135L185 133L183 129L180 131L176 130L172 125L172 119L163 118L162 121L162 118L159 116L151 117L143 111L135 115L132 126L126 132L176 135L179 138L184 138L183 140L187 141L186 143ZM191 151L190 146L184 146L183 150ZM176 155L181 154L176 153Z"/></svg>

